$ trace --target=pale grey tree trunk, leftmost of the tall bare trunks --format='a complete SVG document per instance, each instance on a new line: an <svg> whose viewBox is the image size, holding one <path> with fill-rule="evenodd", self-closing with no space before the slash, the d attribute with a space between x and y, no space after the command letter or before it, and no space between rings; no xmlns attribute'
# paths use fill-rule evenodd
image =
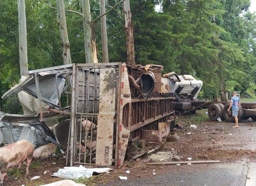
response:
<svg viewBox="0 0 256 186"><path fill-rule="evenodd" d="M27 76L27 23L25 0L18 0L19 41L20 41L20 77Z"/></svg>

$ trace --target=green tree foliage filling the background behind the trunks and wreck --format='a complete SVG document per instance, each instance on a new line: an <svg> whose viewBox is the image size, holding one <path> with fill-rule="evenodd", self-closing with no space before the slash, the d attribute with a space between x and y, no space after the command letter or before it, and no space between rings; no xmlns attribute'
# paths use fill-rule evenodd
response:
<svg viewBox="0 0 256 186"><path fill-rule="evenodd" d="M45 0L56 7L56 0ZM106 11L119 0L108 0ZM65 8L82 12L81 0L64 0ZM161 5L161 11L155 7ZM199 95L213 100L224 92L246 91L256 83L256 15L250 0L130 0L137 64L164 66L163 73L191 74L203 81ZM91 17L100 15L90 1ZM62 62L57 11L39 0L26 0L29 70ZM109 61L127 61L124 13L108 13ZM66 12L73 63L85 61L82 16ZM101 21L92 24L102 61ZM17 1L0 1L0 96L20 79ZM247 91L248 92L248 91ZM65 99L62 99L63 104ZM0 100L0 109L20 113L18 99Z"/></svg>

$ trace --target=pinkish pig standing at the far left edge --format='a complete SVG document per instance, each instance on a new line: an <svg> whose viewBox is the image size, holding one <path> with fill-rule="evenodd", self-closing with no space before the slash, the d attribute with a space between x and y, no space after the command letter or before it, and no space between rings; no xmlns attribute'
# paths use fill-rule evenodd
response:
<svg viewBox="0 0 256 186"><path fill-rule="evenodd" d="M0 148L0 186L3 186L3 180L7 177L7 169L19 165L21 168L26 159L26 175L33 158L34 145L27 140L20 140L13 144Z"/></svg>

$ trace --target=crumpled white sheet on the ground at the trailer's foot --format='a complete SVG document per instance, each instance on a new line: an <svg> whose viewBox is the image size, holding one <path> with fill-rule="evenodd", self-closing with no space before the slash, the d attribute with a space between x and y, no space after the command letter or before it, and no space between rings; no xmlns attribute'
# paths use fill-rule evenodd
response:
<svg viewBox="0 0 256 186"><path fill-rule="evenodd" d="M84 166L71 166L64 167L59 169L57 173L54 173L52 176L56 176L64 179L78 179L78 178L89 178L94 173L106 173L107 171L113 170L112 168L85 168Z"/></svg>

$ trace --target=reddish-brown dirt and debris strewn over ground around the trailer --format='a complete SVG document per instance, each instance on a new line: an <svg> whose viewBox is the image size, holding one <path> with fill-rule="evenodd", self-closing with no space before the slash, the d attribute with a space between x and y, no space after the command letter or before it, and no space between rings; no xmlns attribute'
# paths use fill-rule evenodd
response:
<svg viewBox="0 0 256 186"><path fill-rule="evenodd" d="M173 158L177 156L181 161L193 160L221 160L222 162L236 162L241 159L255 159L256 157L256 123L252 121L243 121L239 128L232 128L234 124L225 122L205 122L195 130L189 128L194 134L187 134L186 130L178 130L180 140L177 142L165 142L158 144L161 148L155 152L171 152L165 155L163 161L177 161ZM232 134L232 135L230 135ZM138 146L133 146L136 150ZM150 149L154 148L151 146ZM147 148L148 149L148 148ZM139 151L139 149L137 149ZM132 152L132 151L131 151ZM138 152L137 152L138 153ZM132 157L136 153L130 153ZM160 153L161 154L161 153ZM162 154L164 155L164 154ZM172 156L173 155L173 156ZM169 160L167 160L169 158ZM161 158L160 158L161 160ZM189 165L147 165L147 162L153 161L149 155L134 160L125 161L121 169L110 171L110 173L93 176L93 179L87 183L87 186L102 186L109 180L118 180L119 176L127 176L128 179L150 178L153 177L153 170L157 174L165 174L167 170L180 171L184 167L195 168L198 166ZM155 160L156 161L156 160ZM157 160L158 161L158 160ZM56 164L53 164L56 163ZM25 166L20 173L9 175L8 186L38 186L41 184L52 183L59 178L52 177L51 174L63 168L66 164L65 158L50 158L41 161L32 161L29 177L40 176L40 179L30 180L25 177ZM130 173L126 173L126 171ZM45 171L47 174L43 174ZM13 171L11 171L13 173ZM10 172L9 172L10 174ZM18 176L16 176L18 175ZM15 179L17 178L17 179Z"/></svg>

